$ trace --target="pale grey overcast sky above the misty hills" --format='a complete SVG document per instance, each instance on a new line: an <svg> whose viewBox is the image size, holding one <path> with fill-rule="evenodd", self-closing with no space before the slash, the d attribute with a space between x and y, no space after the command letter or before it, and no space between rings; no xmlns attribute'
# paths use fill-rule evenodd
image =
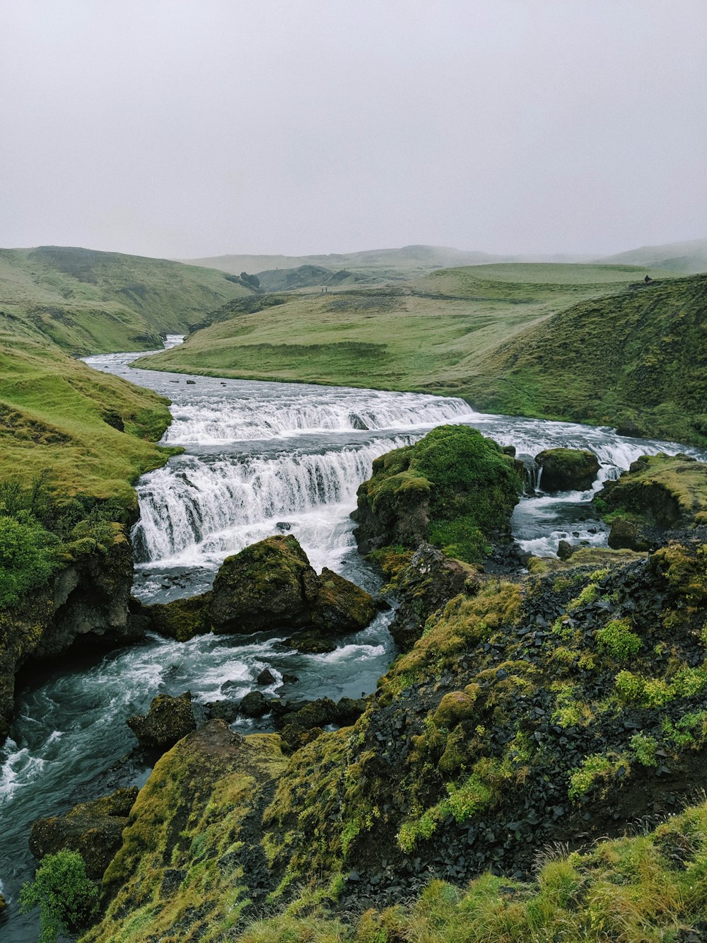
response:
<svg viewBox="0 0 707 943"><path fill-rule="evenodd" d="M707 237L706 0L0 0L0 245Z"/></svg>

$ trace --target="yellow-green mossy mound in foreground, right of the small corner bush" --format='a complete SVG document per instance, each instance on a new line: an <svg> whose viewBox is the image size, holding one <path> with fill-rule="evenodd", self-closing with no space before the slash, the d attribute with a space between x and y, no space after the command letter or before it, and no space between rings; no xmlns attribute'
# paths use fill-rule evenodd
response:
<svg viewBox="0 0 707 943"><path fill-rule="evenodd" d="M156 763L103 880L109 905L85 943L230 935L271 888L262 810L285 762L276 735L210 720Z"/></svg>

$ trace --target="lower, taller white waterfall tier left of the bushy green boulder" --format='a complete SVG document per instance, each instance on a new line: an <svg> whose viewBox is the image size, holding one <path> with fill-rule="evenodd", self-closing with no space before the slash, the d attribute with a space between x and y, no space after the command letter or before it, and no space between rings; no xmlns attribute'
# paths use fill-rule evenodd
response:
<svg viewBox="0 0 707 943"><path fill-rule="evenodd" d="M374 458L412 440L379 438L324 453L180 455L140 480L133 540L140 563L217 563L292 530L303 545L351 546L350 511Z"/></svg>

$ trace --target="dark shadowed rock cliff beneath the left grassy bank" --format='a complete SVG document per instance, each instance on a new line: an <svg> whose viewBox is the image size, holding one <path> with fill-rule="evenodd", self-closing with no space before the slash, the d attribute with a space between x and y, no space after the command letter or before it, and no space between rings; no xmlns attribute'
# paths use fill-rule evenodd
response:
<svg viewBox="0 0 707 943"><path fill-rule="evenodd" d="M128 612L133 554L116 525L113 543L76 555L46 587L0 611L0 743L12 717L15 676L28 662L72 645L112 648L143 636Z"/></svg>

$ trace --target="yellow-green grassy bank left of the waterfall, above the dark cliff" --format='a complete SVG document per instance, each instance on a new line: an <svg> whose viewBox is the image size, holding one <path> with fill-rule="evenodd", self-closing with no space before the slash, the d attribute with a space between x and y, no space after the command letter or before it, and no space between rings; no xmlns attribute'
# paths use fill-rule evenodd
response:
<svg viewBox="0 0 707 943"><path fill-rule="evenodd" d="M171 421L167 400L99 373L33 339L0 342L0 481L49 472L59 495L118 498L170 452L154 443Z"/></svg>

